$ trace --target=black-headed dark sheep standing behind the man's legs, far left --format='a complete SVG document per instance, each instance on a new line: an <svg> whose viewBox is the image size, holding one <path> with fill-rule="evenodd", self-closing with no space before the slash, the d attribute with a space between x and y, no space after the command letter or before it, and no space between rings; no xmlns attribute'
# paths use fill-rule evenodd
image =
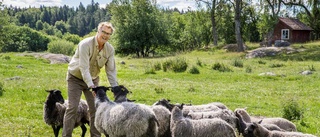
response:
<svg viewBox="0 0 320 137"><path fill-rule="evenodd" d="M60 128L63 127L63 118L68 106L68 100L64 100L61 91L57 89L46 90L49 95L43 107L44 122L53 129L55 137L58 137ZM87 131L85 124L89 125L88 105L86 101L81 100L78 106L78 113L75 128L80 126L82 129L81 136L84 137Z"/></svg>

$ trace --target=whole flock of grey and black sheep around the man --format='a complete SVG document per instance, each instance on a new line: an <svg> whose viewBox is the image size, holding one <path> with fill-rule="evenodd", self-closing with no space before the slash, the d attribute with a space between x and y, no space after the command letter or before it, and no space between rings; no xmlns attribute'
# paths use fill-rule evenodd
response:
<svg viewBox="0 0 320 137"><path fill-rule="evenodd" d="M316 137L298 132L296 126L284 118L258 118L245 109L232 111L224 104L172 104L161 99L153 105L135 103L127 98L129 91L118 87L99 86L95 94L95 127L106 137ZM115 100L106 92L111 90ZM44 104L44 121L52 126L55 136L63 126L67 106L59 90L48 90ZM89 123L88 106L81 100L75 127L85 136Z"/></svg>

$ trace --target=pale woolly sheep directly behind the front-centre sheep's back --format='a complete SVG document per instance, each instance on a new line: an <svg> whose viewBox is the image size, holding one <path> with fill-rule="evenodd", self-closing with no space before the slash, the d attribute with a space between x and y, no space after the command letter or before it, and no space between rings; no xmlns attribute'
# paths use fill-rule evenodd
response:
<svg viewBox="0 0 320 137"><path fill-rule="evenodd" d="M186 117L194 120L221 118L222 120L225 120L226 122L228 122L233 128L237 128L239 125L238 118L229 109L219 109L219 110L206 111L206 112L189 111Z"/></svg>

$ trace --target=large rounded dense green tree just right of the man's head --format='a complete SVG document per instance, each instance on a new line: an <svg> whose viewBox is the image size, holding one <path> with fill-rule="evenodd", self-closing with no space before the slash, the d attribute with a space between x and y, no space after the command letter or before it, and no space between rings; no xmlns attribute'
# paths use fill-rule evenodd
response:
<svg viewBox="0 0 320 137"><path fill-rule="evenodd" d="M117 52L148 57L166 42L158 11L151 1L113 1L110 5L112 22L117 28Z"/></svg>

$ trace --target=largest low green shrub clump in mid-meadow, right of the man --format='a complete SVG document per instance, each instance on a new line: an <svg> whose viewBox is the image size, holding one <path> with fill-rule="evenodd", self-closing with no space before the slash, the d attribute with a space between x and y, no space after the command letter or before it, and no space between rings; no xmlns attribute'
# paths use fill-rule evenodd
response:
<svg viewBox="0 0 320 137"><path fill-rule="evenodd" d="M163 71L172 70L173 72L184 72L187 70L188 63L185 58L175 58L166 60L162 63Z"/></svg>

